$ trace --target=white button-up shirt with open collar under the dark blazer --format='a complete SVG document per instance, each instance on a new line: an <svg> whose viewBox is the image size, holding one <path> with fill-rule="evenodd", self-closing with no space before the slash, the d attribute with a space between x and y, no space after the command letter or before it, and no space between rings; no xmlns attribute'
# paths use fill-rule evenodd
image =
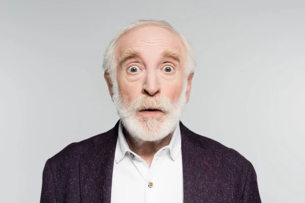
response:
<svg viewBox="0 0 305 203"><path fill-rule="evenodd" d="M154 155L149 168L144 159L129 149L121 123L119 123L113 165L111 202L183 202L179 125L175 128L169 145Z"/></svg>

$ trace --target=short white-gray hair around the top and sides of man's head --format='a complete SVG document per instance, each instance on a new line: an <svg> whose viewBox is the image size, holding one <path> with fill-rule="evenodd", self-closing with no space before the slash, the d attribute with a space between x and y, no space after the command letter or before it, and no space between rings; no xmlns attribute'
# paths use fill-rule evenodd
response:
<svg viewBox="0 0 305 203"><path fill-rule="evenodd" d="M191 44L188 42L188 40L180 35L177 31L174 30L174 28L166 21L164 20L138 20L131 25L128 25L121 29L116 37L111 40L110 44L108 45L105 54L104 54L104 60L103 60L103 69L108 74L108 77L111 80L111 83L113 85L117 85L116 79L115 79L115 72L116 72L116 61L115 61L115 46L118 42L118 40L124 36L126 33L130 32L131 30L134 30L136 28L146 26L146 25L155 25L159 27L167 28L174 33L178 35L178 37L181 39L182 44L184 45L185 51L186 51L186 62L185 62L185 70L186 70L186 76L189 76L190 74L194 73L196 61L193 53L193 49Z"/></svg>

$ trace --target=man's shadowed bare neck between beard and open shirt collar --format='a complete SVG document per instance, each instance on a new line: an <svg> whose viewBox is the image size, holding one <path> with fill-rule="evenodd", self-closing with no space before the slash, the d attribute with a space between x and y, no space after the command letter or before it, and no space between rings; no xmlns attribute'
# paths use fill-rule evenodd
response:
<svg viewBox="0 0 305 203"><path fill-rule="evenodd" d="M167 137L160 141L155 141L155 142L144 142L144 141L139 141L135 140L128 130L126 130L123 127L123 132L124 136L126 139L126 142L130 148L131 151L135 152L138 154L142 159L144 159L150 167L151 162L153 161L154 155L163 147L167 146L172 138L173 132L168 134Z"/></svg>

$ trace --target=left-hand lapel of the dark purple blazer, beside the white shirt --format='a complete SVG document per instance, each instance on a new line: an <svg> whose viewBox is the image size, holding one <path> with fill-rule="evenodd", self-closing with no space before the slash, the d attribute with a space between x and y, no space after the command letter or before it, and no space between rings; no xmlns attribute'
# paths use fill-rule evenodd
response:
<svg viewBox="0 0 305 203"><path fill-rule="evenodd" d="M80 158L80 191L82 203L111 202L112 171L117 142L115 127L96 136L92 147Z"/></svg>

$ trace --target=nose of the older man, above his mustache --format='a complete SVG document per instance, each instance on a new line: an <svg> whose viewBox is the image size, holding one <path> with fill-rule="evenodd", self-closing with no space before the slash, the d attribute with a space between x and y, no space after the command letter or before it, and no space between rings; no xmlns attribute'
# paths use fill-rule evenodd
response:
<svg viewBox="0 0 305 203"><path fill-rule="evenodd" d="M157 72L147 71L144 79L142 93L154 96L155 94L160 92L160 83L157 77Z"/></svg>

